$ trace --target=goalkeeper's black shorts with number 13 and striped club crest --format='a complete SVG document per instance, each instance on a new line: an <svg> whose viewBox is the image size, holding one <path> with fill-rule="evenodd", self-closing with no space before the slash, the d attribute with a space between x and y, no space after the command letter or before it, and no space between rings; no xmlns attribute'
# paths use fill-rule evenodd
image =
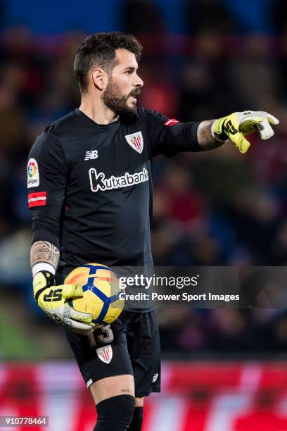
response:
<svg viewBox="0 0 287 431"><path fill-rule="evenodd" d="M115 323L79 335L65 330L89 387L112 375L134 375L135 395L160 392L160 339L156 311L123 311Z"/></svg>

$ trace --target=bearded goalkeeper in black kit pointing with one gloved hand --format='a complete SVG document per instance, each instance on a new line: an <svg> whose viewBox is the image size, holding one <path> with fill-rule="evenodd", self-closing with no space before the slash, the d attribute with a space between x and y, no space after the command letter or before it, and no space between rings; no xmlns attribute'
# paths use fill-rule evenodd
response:
<svg viewBox="0 0 287 431"><path fill-rule="evenodd" d="M215 149L227 140L245 153L251 132L267 139L279 123L263 111L180 123L138 108L141 49L119 32L84 39L74 63L81 105L46 127L28 161L34 298L65 329L96 404L96 431L141 430L144 397L160 392L157 314L151 304L125 308L115 323L94 330L89 313L69 305L82 287L63 280L88 262L153 265L154 156Z"/></svg>

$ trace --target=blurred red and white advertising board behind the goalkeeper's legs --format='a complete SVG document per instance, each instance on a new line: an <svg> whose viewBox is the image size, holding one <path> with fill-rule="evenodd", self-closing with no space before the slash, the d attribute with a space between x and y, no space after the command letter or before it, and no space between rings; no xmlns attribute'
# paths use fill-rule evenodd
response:
<svg viewBox="0 0 287 431"><path fill-rule="evenodd" d="M49 416L50 431L90 431L96 409L75 363L0 366L0 416ZM0 427L0 430L7 430ZM40 431L42 427L13 427ZM287 364L163 363L144 431L287 431Z"/></svg>

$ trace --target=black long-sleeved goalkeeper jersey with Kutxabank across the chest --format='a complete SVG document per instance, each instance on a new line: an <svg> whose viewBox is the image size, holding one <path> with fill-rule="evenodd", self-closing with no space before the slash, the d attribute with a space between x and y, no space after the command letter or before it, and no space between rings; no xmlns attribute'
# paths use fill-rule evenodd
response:
<svg viewBox="0 0 287 431"><path fill-rule="evenodd" d="M197 128L144 108L108 125L75 109L46 127L29 155L28 203L33 230L55 237L60 269L152 266L152 158L200 151Z"/></svg>

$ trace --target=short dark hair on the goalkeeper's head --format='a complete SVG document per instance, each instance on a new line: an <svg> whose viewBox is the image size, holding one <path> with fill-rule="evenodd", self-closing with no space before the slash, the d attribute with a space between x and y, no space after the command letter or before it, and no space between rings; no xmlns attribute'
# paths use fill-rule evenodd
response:
<svg viewBox="0 0 287 431"><path fill-rule="evenodd" d="M136 61L139 61L143 47L134 36L122 32L94 33L79 44L74 72L81 92L87 92L88 75L95 66L111 73L116 65L116 49L131 51L136 56Z"/></svg>

